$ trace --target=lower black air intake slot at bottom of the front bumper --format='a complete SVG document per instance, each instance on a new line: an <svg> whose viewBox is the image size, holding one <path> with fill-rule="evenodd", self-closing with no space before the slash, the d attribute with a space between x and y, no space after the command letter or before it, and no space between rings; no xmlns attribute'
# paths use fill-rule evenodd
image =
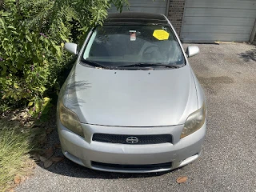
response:
<svg viewBox="0 0 256 192"><path fill-rule="evenodd" d="M170 169L172 166L171 162L150 164L150 165L121 165L121 164L110 164L103 162L91 162L91 166L104 170L161 170Z"/></svg>

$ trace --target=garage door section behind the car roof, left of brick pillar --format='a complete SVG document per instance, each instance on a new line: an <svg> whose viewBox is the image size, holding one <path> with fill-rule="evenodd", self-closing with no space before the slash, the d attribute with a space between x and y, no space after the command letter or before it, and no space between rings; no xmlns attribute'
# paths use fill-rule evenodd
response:
<svg viewBox="0 0 256 192"><path fill-rule="evenodd" d="M164 0L129 0L130 11L146 12L152 14L166 14L167 2ZM125 7L123 11L128 11ZM109 10L110 13L117 12L115 7Z"/></svg>

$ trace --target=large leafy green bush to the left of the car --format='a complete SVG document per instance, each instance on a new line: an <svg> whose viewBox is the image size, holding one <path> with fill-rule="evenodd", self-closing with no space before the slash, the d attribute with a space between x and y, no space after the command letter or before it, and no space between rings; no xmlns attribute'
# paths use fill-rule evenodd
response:
<svg viewBox="0 0 256 192"><path fill-rule="evenodd" d="M78 42L102 24L111 5L122 11L127 0L5 0L0 3L1 104L27 105L40 115L70 61L65 42Z"/></svg>

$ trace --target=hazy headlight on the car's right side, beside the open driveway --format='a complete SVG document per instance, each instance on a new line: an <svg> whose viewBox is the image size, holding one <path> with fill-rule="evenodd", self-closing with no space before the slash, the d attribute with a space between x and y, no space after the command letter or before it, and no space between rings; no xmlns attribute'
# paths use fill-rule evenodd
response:
<svg viewBox="0 0 256 192"><path fill-rule="evenodd" d="M186 119L184 128L182 130L181 138L193 134L199 130L206 122L206 104L203 102L202 107L196 110L194 113Z"/></svg>

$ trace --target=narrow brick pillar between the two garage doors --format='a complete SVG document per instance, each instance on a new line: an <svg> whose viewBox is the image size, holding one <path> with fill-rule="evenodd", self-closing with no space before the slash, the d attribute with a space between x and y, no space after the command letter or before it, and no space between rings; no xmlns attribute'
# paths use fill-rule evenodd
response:
<svg viewBox="0 0 256 192"><path fill-rule="evenodd" d="M186 0L169 0L168 18L174 29L180 36L182 30L182 18Z"/></svg>

